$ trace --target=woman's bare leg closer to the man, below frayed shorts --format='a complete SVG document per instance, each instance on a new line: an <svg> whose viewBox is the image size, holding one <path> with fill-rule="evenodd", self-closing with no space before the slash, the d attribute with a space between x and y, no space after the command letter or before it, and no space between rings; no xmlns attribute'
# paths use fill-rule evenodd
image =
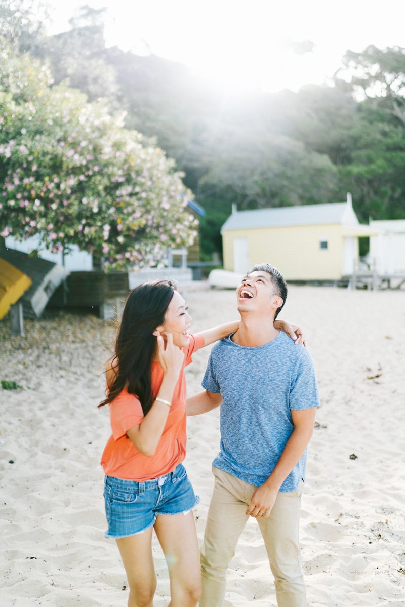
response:
<svg viewBox="0 0 405 607"><path fill-rule="evenodd" d="M160 514L155 532L169 568L168 607L195 607L201 594L200 556L192 512Z"/></svg>

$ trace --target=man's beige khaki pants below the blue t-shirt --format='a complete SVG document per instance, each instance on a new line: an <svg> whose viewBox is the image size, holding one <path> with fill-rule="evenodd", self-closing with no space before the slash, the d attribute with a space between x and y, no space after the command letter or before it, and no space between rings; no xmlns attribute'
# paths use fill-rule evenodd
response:
<svg viewBox="0 0 405 607"><path fill-rule="evenodd" d="M213 473L215 484L201 548L200 607L223 607L226 570L249 518L245 511L256 489L214 466ZM257 518L279 607L307 605L298 540L301 487L302 483L294 491L279 492L270 517Z"/></svg>

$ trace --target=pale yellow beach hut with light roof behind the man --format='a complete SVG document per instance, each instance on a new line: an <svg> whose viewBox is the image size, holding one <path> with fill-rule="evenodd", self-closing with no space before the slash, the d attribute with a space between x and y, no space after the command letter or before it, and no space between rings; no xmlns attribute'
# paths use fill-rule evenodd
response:
<svg viewBox="0 0 405 607"><path fill-rule="evenodd" d="M276 266L287 280L339 280L358 265L361 225L346 202L237 211L222 226L223 266L245 273L255 263Z"/></svg>

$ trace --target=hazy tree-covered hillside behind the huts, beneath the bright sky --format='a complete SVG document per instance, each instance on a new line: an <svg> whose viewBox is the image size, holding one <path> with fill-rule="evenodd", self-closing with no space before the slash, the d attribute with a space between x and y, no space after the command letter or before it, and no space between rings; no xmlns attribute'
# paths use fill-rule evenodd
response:
<svg viewBox="0 0 405 607"><path fill-rule="evenodd" d="M206 211L206 259L232 203L338 202L351 191L363 221L405 216L405 49L347 51L328 86L236 96L182 64L107 48L103 21L86 5L69 31L47 36L24 2L1 13L2 34L49 63L53 86L69 79L89 101L106 99L174 158Z"/></svg>

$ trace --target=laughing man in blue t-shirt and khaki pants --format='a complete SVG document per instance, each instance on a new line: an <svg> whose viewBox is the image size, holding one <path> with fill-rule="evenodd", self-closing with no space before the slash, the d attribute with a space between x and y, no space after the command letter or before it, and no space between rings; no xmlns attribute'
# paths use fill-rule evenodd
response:
<svg viewBox="0 0 405 607"><path fill-rule="evenodd" d="M310 354L273 326L286 297L285 280L273 266L248 272L237 288L239 330L214 346L205 391L188 399L188 415L221 405L200 607L223 606L226 570L248 516L259 523L277 604L307 605L299 510L319 398Z"/></svg>

